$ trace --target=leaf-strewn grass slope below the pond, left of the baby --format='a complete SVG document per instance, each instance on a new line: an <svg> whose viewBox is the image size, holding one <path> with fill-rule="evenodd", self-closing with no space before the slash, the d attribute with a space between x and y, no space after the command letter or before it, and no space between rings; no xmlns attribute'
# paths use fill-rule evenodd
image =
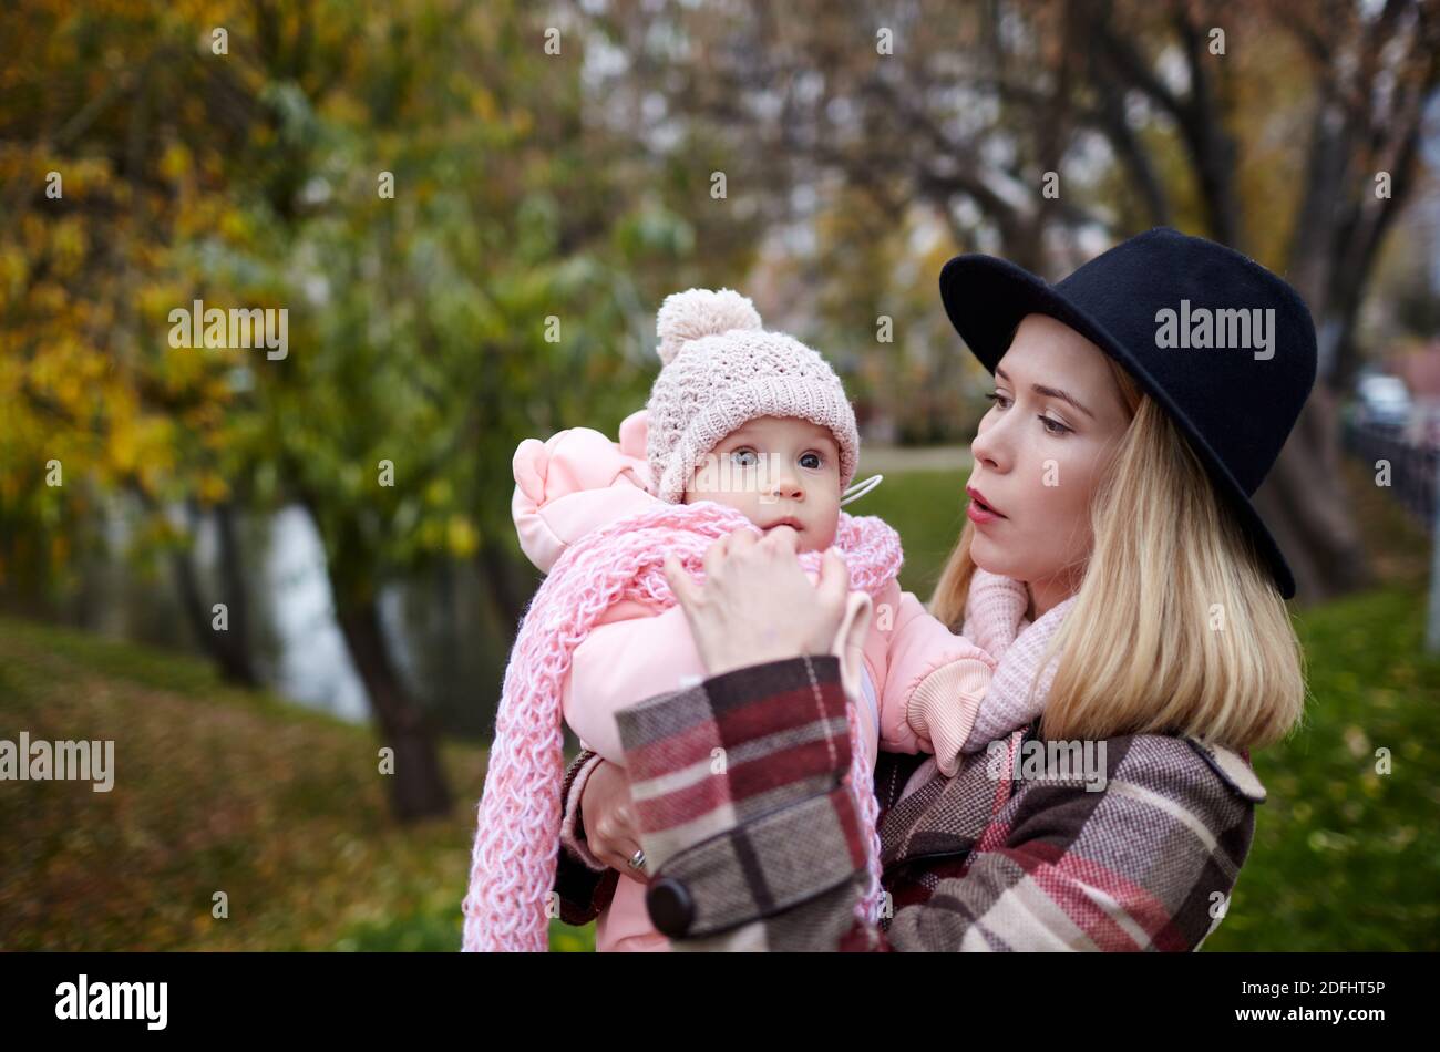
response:
<svg viewBox="0 0 1440 1052"><path fill-rule="evenodd" d="M481 750L446 743L451 817L400 826L369 730L186 655L0 619L0 737L22 730L114 740L115 776L0 784L3 950L459 947Z"/></svg>

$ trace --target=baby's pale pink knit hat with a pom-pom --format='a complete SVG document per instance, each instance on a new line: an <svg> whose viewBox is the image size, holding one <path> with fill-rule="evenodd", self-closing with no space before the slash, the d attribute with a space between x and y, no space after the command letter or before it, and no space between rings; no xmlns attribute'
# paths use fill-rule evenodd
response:
<svg viewBox="0 0 1440 1052"><path fill-rule="evenodd" d="M855 410L835 370L809 347L760 328L733 289L665 296L655 319L664 367L649 391L645 455L662 501L680 504L706 455L757 416L793 416L828 427L840 446L840 488L855 475Z"/></svg>

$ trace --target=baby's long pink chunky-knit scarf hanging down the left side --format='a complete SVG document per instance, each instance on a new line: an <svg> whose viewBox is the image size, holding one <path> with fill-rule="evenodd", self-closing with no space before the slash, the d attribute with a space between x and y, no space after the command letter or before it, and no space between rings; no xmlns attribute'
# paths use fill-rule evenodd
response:
<svg viewBox="0 0 1440 1052"><path fill-rule="evenodd" d="M759 532L740 512L710 501L665 505L586 534L536 591L505 668L462 907L464 950L543 951L549 946L563 806L560 698L575 648L621 600L672 606L665 556L674 553L685 570L704 580L706 548L740 527ZM841 512L834 547L844 556L855 590L876 594L900 570L900 537L878 518ZM804 553L799 560L806 570L818 570L821 553ZM877 804L855 707L848 708L848 780L870 839L868 888L857 914L874 920L880 902Z"/></svg>

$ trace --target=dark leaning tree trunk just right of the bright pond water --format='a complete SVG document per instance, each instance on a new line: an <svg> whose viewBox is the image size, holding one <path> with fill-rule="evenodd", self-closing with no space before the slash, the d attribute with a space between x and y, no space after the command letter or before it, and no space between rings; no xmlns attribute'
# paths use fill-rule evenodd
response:
<svg viewBox="0 0 1440 1052"><path fill-rule="evenodd" d="M448 816L451 792L441 767L435 730L396 675L384 646L377 603L372 597L337 606L340 630L370 695L382 744L395 750L390 803L396 817L413 822Z"/></svg>

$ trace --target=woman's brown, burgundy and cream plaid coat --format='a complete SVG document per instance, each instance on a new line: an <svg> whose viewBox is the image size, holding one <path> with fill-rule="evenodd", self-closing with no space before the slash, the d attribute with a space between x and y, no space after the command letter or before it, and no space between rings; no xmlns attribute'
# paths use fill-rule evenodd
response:
<svg viewBox="0 0 1440 1052"><path fill-rule="evenodd" d="M871 925L854 917L864 840L841 786L835 658L736 669L618 721L647 905L677 950L1197 950L1224 917L1264 800L1246 758L1195 738L1094 743L1104 777L1084 781L1012 767L1040 741L1031 724L904 799L926 757L883 753L887 897ZM582 753L566 773L569 810L592 760ZM570 924L613 892L615 871L593 862L560 852Z"/></svg>

